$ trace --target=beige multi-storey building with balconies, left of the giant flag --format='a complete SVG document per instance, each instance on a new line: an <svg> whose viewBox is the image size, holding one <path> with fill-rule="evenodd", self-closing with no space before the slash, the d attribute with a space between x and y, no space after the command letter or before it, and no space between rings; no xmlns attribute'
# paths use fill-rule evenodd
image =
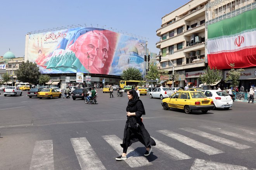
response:
<svg viewBox="0 0 256 170"><path fill-rule="evenodd" d="M205 65L205 5L208 0L191 0L182 7L162 17L156 34L160 41L161 70L180 75L175 86L199 85ZM170 62L171 61L171 62Z"/></svg>

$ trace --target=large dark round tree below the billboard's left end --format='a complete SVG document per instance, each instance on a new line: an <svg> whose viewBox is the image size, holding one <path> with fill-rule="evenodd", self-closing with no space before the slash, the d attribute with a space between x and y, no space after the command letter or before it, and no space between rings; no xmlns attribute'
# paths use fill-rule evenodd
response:
<svg viewBox="0 0 256 170"><path fill-rule="evenodd" d="M36 84L40 75L39 68L36 66L36 63L29 62L26 63L23 61L21 65L19 65L19 69L17 70L17 79L21 82L28 82L32 84Z"/></svg>

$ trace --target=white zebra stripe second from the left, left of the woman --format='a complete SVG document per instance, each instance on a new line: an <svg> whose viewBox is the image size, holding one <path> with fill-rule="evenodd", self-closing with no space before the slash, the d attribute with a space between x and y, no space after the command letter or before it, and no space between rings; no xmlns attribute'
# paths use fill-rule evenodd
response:
<svg viewBox="0 0 256 170"><path fill-rule="evenodd" d="M86 138L71 138L81 170L106 170Z"/></svg>

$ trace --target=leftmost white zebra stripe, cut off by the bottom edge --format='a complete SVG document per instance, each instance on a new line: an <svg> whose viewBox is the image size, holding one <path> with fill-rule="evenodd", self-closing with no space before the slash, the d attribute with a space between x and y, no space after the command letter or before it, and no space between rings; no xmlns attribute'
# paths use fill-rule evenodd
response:
<svg viewBox="0 0 256 170"><path fill-rule="evenodd" d="M52 140L35 142L29 170L54 170Z"/></svg>

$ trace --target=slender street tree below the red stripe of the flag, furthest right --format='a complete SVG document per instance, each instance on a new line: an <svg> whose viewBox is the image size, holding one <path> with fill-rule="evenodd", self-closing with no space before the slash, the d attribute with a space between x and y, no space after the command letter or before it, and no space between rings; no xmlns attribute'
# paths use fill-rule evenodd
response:
<svg viewBox="0 0 256 170"><path fill-rule="evenodd" d="M235 87L235 86L238 86L239 85L239 77L240 77L240 74L242 71L244 71L244 69L240 68L240 69L237 69L235 70L234 67L235 67L235 64L234 63L231 63L230 66L232 67L232 69L228 72L228 75L227 75L227 78L225 80L226 83L230 82L230 87Z"/></svg>

